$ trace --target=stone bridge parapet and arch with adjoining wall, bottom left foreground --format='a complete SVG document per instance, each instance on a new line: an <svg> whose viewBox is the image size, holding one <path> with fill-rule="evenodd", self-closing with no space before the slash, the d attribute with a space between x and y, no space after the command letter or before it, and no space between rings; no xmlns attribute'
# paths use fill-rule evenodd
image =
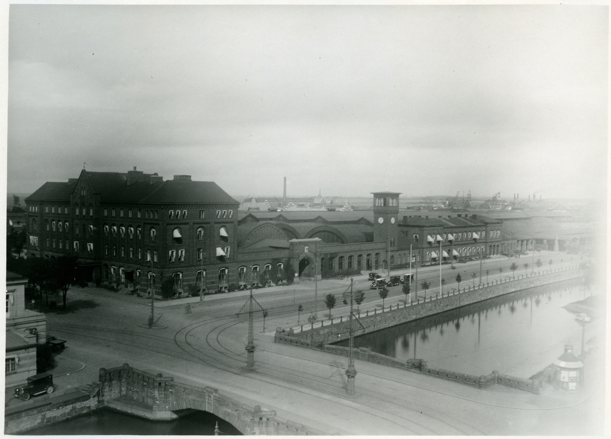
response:
<svg viewBox="0 0 611 439"><path fill-rule="evenodd" d="M324 435L326 432L290 419L274 410L262 410L225 396L211 387L197 388L173 377L149 374L129 364L100 369L99 381L65 395L47 395L37 405L7 409L4 433L18 434L36 427L65 421L97 408L109 407L133 416L164 421L177 418L185 408L208 411L230 422L245 435Z"/></svg>

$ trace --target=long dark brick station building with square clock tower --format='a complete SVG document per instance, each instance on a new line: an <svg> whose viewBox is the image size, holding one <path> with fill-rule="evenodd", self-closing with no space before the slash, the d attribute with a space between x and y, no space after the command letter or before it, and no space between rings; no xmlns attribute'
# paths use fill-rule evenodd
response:
<svg viewBox="0 0 611 439"><path fill-rule="evenodd" d="M74 255L97 284L159 294L166 282L195 294L408 267L410 245L412 263L436 260L439 243L429 235L444 239L448 261L448 234L456 236L455 259L499 253L501 221L463 213L400 219L399 195L373 193L365 211L238 212L216 183L189 175L83 169L26 198L27 254Z"/></svg>

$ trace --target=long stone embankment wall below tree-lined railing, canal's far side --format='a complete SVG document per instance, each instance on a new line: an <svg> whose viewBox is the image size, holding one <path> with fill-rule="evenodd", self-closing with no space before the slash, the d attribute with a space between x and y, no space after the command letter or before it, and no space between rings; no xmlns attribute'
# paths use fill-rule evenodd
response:
<svg viewBox="0 0 611 439"><path fill-rule="evenodd" d="M443 297L431 296L426 300L420 300L412 304L391 305L388 309L376 310L373 313L360 312L359 320L365 326L365 329L360 331L359 335L400 325L411 320L422 319L519 290L566 281L580 276L583 276L583 271L579 267L565 267L562 270L544 271L540 275L535 273L528 277L516 276L516 279L508 281L489 282L482 287L468 286L459 293L448 293L447 295L444 293ZM348 339L346 321L346 318L334 319L331 322L318 323L318 325L314 323L301 325L297 328L277 328L277 331L301 341L324 345ZM295 343L298 342L295 341Z"/></svg>

